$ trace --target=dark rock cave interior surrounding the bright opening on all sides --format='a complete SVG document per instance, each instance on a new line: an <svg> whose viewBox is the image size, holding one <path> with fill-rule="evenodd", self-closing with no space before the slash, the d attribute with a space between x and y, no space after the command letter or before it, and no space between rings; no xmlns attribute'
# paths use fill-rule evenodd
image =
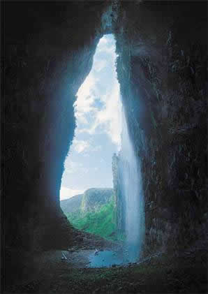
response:
<svg viewBox="0 0 208 294"><path fill-rule="evenodd" d="M3 1L1 12L3 291L51 293L49 281L38 288L36 256L84 242L60 208L61 177L77 91L98 41L114 34L122 103L142 174L142 257L174 256L168 274L179 278L169 288L161 274L158 284L126 282L110 291L207 293L207 2ZM121 184L115 178L119 228ZM107 293L106 285L90 281L71 293ZM67 292L65 286L55 293Z"/></svg>

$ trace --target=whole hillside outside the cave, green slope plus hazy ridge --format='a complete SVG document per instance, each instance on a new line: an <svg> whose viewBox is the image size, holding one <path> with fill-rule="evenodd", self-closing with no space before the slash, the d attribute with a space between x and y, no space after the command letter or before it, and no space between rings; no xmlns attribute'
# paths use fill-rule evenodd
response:
<svg viewBox="0 0 208 294"><path fill-rule="evenodd" d="M113 189L88 189L82 195L62 200L61 209L75 228L107 240L122 240L117 235Z"/></svg>

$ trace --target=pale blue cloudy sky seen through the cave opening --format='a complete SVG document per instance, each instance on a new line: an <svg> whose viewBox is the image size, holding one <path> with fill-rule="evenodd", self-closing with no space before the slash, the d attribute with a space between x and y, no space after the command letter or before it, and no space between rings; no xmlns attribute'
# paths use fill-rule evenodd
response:
<svg viewBox="0 0 208 294"><path fill-rule="evenodd" d="M112 155L121 144L121 100L112 34L99 41L91 72L77 91L77 128L64 163L60 199L112 187Z"/></svg>

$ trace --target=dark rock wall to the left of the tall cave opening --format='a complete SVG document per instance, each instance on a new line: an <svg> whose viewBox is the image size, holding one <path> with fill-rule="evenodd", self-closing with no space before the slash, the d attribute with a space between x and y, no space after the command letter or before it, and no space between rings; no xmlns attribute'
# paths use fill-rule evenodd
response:
<svg viewBox="0 0 208 294"><path fill-rule="evenodd" d="M7 247L70 242L59 189L74 135L75 94L107 29L105 7L101 1L2 3L1 207Z"/></svg>

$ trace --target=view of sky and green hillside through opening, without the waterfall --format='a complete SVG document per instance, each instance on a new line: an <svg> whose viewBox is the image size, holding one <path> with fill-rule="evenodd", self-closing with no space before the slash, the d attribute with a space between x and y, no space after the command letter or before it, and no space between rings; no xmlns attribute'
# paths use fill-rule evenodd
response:
<svg viewBox="0 0 208 294"><path fill-rule="evenodd" d="M117 239L112 157L121 148L121 99L113 34L96 47L91 71L77 91L75 136L64 163L61 208L75 228Z"/></svg>

